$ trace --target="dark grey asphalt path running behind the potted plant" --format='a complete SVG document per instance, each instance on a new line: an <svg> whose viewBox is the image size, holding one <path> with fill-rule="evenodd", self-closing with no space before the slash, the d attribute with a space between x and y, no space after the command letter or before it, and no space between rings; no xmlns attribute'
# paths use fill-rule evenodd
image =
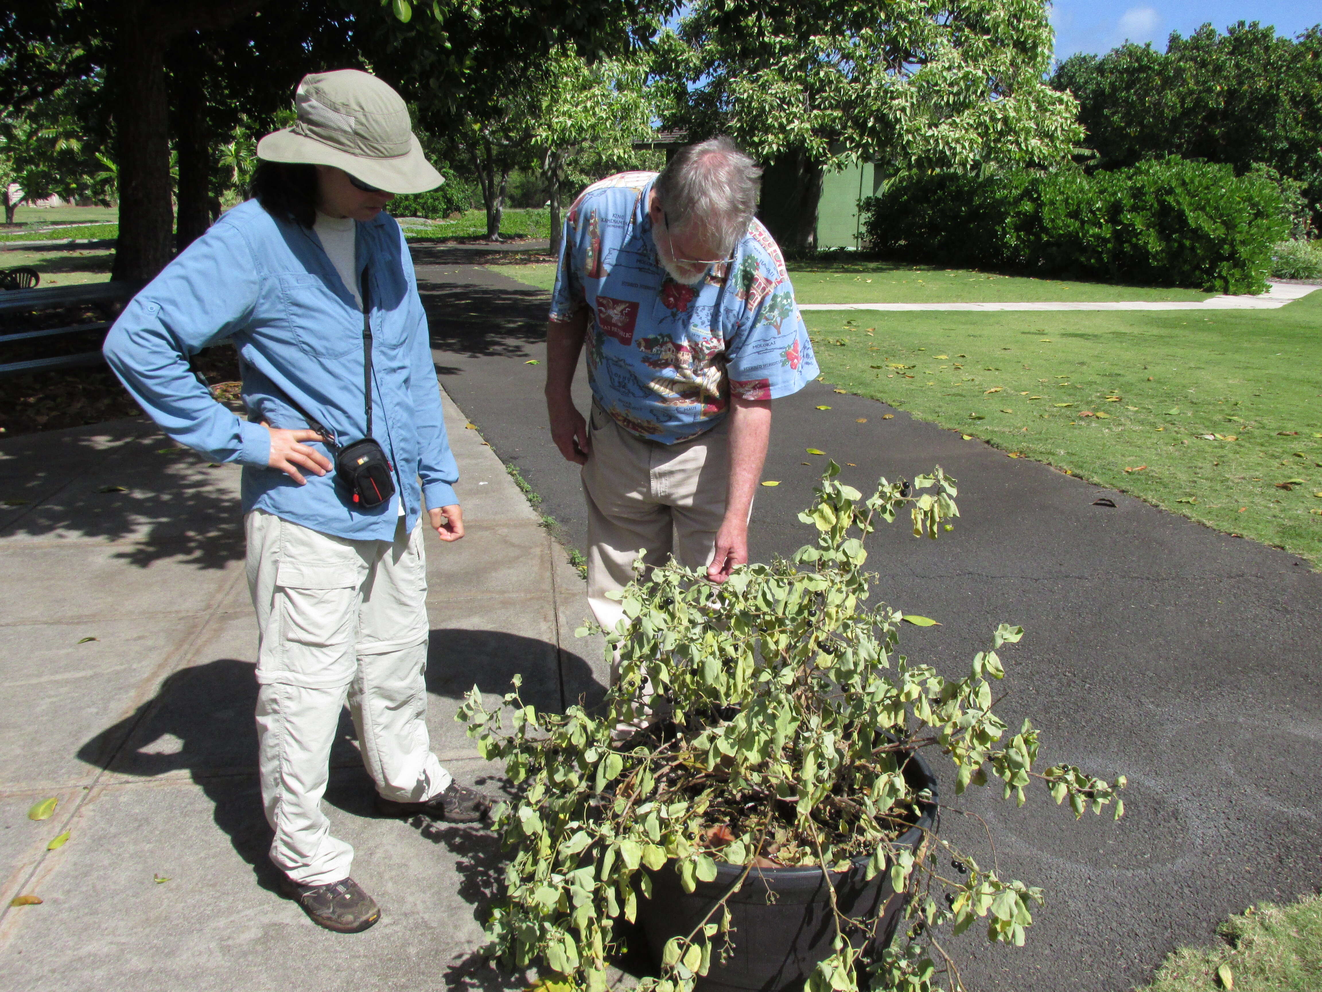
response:
<svg viewBox="0 0 1322 992"><path fill-rule="evenodd" d="M582 549L578 468L542 401L547 295L452 255L416 261L443 385ZM586 409L582 370L576 389ZM954 798L944 776L944 835L1047 897L1025 948L951 942L970 988L1129 989L1175 947L1216 940L1228 914L1318 890L1322 575L822 382L775 403L764 479L780 485L759 491L755 559L812 540L797 511L825 459L809 447L865 491L935 464L960 480L952 533L917 540L896 521L873 541L876 595L941 622L907 632L910 659L958 673L997 623L1022 624L1002 652L1002 716L1032 720L1043 762L1129 779L1120 823L1075 823L1044 794L1017 809L998 792ZM988 823L994 854L960 811Z"/></svg>

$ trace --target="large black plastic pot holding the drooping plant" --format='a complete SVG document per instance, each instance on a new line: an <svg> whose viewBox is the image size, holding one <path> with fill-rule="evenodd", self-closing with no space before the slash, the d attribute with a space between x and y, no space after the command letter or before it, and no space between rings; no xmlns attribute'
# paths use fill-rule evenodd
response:
<svg viewBox="0 0 1322 992"><path fill-rule="evenodd" d="M921 807L917 824L895 841L896 847L916 849L923 832L936 829L936 778L919 755L910 758L904 778L912 788L927 788L932 794L932 802ZM867 881L867 861L859 857L849 872L830 874L841 913L854 919L871 919L880 910L882 921L870 948L879 954L895 935L904 899L895 898L890 872L878 872ZM652 898L640 905L639 923L653 963L660 966L662 948L672 936L693 932L742 872L740 866L718 864L715 881L698 882L691 893L683 890L673 862L650 873ZM735 927L732 955L722 966L719 955L713 954L710 971L698 979L698 992L797 992L817 962L832 952L836 925L820 868L754 868L727 905ZM862 934L853 938L855 947L862 942Z"/></svg>

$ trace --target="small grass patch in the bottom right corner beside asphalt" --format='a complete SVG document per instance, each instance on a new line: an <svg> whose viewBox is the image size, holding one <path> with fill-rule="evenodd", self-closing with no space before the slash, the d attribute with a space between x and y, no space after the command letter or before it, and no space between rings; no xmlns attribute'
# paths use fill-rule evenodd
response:
<svg viewBox="0 0 1322 992"><path fill-rule="evenodd" d="M1181 947L1137 992L1315 992L1322 988L1322 895L1260 903L1222 923L1215 947Z"/></svg>

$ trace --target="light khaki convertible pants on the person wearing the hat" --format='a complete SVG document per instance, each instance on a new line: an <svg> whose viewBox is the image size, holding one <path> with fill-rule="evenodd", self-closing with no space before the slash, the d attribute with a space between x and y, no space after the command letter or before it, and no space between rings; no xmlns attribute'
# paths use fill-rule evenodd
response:
<svg viewBox="0 0 1322 992"><path fill-rule="evenodd" d="M386 799L451 782L427 734L427 559L422 522L349 541L253 511L247 579L258 620L258 767L271 860L303 885L349 876L353 848L321 812L348 698L362 761Z"/></svg>

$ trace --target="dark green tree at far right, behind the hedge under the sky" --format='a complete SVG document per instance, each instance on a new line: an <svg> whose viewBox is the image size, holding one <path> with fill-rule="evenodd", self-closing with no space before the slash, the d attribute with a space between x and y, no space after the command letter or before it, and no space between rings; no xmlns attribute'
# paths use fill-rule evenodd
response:
<svg viewBox="0 0 1322 992"><path fill-rule="evenodd" d="M1097 167L1179 155L1243 175L1261 163L1302 183L1322 222L1322 26L1292 40L1256 21L1224 34L1204 24L1171 34L1165 54L1072 56L1051 85L1079 99Z"/></svg>

